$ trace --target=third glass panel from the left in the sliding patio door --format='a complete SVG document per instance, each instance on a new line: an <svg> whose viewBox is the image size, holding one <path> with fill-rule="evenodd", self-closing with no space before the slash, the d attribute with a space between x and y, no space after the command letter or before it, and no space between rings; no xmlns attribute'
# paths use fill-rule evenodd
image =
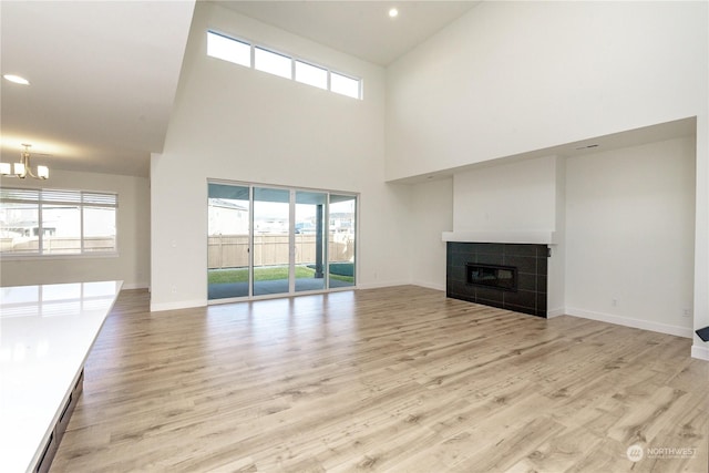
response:
<svg viewBox="0 0 709 473"><path fill-rule="evenodd" d="M296 192L296 291L325 289L327 194Z"/></svg>

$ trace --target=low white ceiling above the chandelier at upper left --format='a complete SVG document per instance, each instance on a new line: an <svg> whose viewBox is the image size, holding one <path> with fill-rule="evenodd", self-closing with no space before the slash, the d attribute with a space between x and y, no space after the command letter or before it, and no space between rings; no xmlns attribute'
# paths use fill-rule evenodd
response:
<svg viewBox="0 0 709 473"><path fill-rule="evenodd" d="M0 1L1 154L147 176L163 148L194 2ZM49 156L42 156L42 153Z"/></svg>

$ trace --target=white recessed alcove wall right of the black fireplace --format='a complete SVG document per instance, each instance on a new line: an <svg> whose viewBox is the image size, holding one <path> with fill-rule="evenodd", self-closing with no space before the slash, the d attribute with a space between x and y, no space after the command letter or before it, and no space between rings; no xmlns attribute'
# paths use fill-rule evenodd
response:
<svg viewBox="0 0 709 473"><path fill-rule="evenodd" d="M691 336L695 155L692 136L567 160L567 313Z"/></svg>

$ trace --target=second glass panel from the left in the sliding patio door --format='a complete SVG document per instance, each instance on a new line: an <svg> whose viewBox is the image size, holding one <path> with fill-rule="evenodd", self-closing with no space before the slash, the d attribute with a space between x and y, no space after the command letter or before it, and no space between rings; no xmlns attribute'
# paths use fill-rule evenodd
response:
<svg viewBox="0 0 709 473"><path fill-rule="evenodd" d="M290 191L254 187L254 296L290 292Z"/></svg>

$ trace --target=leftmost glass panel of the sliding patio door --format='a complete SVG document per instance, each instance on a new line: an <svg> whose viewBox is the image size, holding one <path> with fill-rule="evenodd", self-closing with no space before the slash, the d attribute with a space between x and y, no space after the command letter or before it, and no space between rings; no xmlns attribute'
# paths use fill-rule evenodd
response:
<svg viewBox="0 0 709 473"><path fill-rule="evenodd" d="M207 296L248 296L249 188L212 184L208 187Z"/></svg>

